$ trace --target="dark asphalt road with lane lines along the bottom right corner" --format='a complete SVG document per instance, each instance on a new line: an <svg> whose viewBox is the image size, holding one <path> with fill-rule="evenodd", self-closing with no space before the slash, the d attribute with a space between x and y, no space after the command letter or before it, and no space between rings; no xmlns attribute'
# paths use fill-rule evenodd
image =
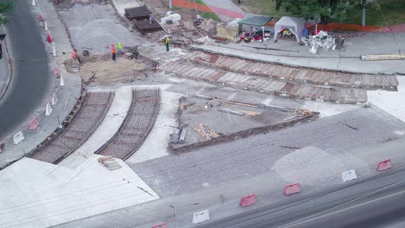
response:
<svg viewBox="0 0 405 228"><path fill-rule="evenodd" d="M313 199L260 207L197 227L401 227L405 168L398 168Z"/></svg>

